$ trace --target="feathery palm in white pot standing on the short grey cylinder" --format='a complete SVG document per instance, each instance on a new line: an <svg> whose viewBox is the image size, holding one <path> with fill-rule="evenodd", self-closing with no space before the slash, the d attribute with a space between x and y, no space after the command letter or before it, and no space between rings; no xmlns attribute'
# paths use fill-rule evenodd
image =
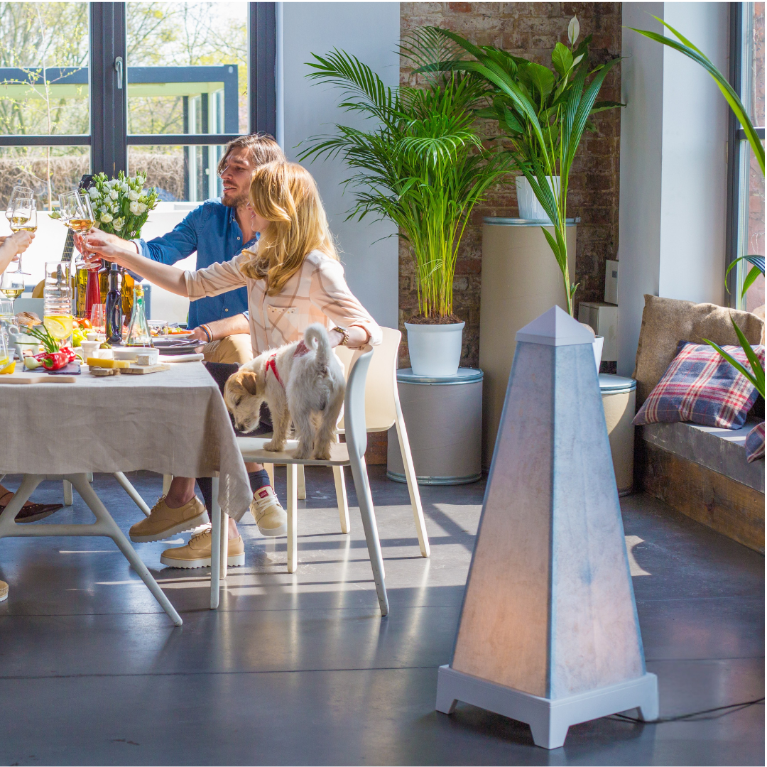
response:
<svg viewBox="0 0 767 767"><path fill-rule="evenodd" d="M367 130L337 124L300 155L341 157L353 171L344 182L354 198L348 219L390 219L407 241L419 309L405 324L410 363L429 377L458 370L464 323L453 314L456 257L472 209L509 166L504 153L482 145L476 127L480 78L437 66L451 47L429 28L400 45L403 61L427 72L423 87L387 87L344 51L312 54L307 76L339 88L342 110L372 119Z"/></svg>

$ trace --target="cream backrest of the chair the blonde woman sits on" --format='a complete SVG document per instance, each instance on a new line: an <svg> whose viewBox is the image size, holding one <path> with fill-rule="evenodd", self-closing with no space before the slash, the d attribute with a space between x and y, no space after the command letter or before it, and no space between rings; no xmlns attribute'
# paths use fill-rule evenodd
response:
<svg viewBox="0 0 767 767"><path fill-rule="evenodd" d="M397 418L394 403L397 397L397 354L402 334L394 328L381 328L383 339L373 347L373 359L367 371L365 385L365 423L368 431L388 431ZM351 349L336 347L336 354L344 364L348 379L351 369L359 356ZM344 429L343 419L338 424Z"/></svg>

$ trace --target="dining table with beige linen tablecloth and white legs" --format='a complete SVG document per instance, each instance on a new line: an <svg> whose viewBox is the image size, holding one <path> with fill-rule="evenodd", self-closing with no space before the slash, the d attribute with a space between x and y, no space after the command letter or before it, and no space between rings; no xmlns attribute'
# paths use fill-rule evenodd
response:
<svg viewBox="0 0 767 767"><path fill-rule="evenodd" d="M219 514L239 520L249 509L248 475L218 385L199 361L166 367L149 374L106 377L92 375L83 367L66 383L38 376L40 383L11 385L12 376L0 376L0 472L21 475L18 490L0 513L0 538L111 538L180 626L183 621L176 608L89 482L91 474L113 474L124 480L120 484L130 494L126 472L212 477L214 520ZM21 364L13 375L25 376ZM15 522L40 482L51 479L71 482L96 521ZM131 497L141 508L140 497ZM143 508L146 513L146 505ZM219 576L225 574L225 551L221 559L219 550L225 548L225 537L212 542L218 554L212 560L214 564L222 561L224 571L212 568L211 607L218 606Z"/></svg>

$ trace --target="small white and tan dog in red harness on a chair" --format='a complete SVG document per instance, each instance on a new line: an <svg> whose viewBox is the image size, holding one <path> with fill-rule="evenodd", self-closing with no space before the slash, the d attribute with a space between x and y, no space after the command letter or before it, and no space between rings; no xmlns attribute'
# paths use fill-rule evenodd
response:
<svg viewBox="0 0 767 767"><path fill-rule="evenodd" d="M261 403L267 404L274 430L265 449L285 449L292 421L298 436L295 457L327 460L344 404L344 367L321 324L309 325L304 331L308 351L297 357L299 344L301 341L285 344L246 362L226 382L224 400L237 429L245 433L255 430Z"/></svg>

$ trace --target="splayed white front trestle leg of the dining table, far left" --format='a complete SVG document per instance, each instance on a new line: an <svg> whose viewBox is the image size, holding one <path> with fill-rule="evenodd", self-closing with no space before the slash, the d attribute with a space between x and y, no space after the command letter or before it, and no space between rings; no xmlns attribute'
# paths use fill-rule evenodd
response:
<svg viewBox="0 0 767 767"><path fill-rule="evenodd" d="M125 558L133 566L133 569L139 574L141 580L146 584L153 597L160 603L163 610L166 611L170 619L176 626L183 624L181 617L176 612L176 608L173 604L170 604L168 597L163 594L163 590L152 578L152 574L147 570L146 565L140 560L136 551L133 551L133 546L130 545L130 541L125 537L125 534L117 526L117 522L114 521L107 508L101 502L101 499L96 495L91 484L87 480L85 473L81 474L61 474L48 477L48 479L66 479L67 482L71 482L74 488L80 494L80 497L86 502L91 512L96 517L96 522L91 525L36 525L25 524L18 525L15 522L16 515L21 511L21 507L29 499L29 496L34 492L35 488L40 482L46 479L45 475L39 474L25 474L21 480L21 486L14 495L12 501L5 507L5 511L0 514L0 538L35 538L35 537L56 537L56 536L73 536L73 537L91 537L91 536L104 536L104 538L111 538L117 548L123 552Z"/></svg>

